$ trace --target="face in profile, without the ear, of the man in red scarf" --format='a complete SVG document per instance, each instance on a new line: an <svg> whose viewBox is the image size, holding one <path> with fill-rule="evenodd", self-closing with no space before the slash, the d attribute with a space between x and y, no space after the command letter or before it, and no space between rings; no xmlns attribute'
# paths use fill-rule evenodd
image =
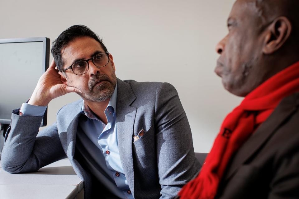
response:
<svg viewBox="0 0 299 199"><path fill-rule="evenodd" d="M237 0L227 21L229 33L216 46L220 57L215 72L234 95L247 95L264 76L259 68L263 47L259 11L254 0Z"/></svg>

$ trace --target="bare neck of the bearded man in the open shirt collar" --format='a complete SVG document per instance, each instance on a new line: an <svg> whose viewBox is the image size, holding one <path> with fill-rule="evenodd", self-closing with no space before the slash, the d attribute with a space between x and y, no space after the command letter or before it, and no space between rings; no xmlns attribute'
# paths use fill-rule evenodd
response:
<svg viewBox="0 0 299 199"><path fill-rule="evenodd" d="M104 113L107 105L109 104L110 98L106 99L102 102L93 102L84 99L84 102L88 105L88 107L93 111L93 113L105 124L107 124L107 118Z"/></svg>

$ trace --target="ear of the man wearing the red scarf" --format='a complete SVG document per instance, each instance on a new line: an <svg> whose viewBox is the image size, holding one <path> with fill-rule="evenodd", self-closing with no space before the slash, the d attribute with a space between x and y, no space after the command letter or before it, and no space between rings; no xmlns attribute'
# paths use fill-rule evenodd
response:
<svg viewBox="0 0 299 199"><path fill-rule="evenodd" d="M292 32L292 24L285 16L276 18L268 28L263 53L272 54L287 41Z"/></svg>

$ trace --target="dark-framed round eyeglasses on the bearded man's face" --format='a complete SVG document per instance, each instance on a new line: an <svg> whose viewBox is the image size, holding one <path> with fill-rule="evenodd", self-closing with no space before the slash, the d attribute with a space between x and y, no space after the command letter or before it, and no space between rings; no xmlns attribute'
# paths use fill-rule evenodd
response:
<svg viewBox="0 0 299 199"><path fill-rule="evenodd" d="M95 56L93 56L90 59L87 60L80 60L78 62L75 62L70 67L67 67L66 69L62 70L61 72L65 72L66 70L72 69L72 71L76 75L83 75L85 74L89 69L89 61L92 60L93 64L96 67L104 67L109 63L109 53L98 53Z"/></svg>

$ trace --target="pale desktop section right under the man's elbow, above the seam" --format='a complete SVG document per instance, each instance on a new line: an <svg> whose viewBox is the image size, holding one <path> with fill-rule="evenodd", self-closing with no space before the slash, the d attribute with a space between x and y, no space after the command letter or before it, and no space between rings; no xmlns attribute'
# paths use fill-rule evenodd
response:
<svg viewBox="0 0 299 199"><path fill-rule="evenodd" d="M59 160L49 164L34 173L10 174L0 168L0 185L21 186L28 184L59 186L73 185L77 187L77 192L83 190L83 182L76 175L68 159Z"/></svg>

